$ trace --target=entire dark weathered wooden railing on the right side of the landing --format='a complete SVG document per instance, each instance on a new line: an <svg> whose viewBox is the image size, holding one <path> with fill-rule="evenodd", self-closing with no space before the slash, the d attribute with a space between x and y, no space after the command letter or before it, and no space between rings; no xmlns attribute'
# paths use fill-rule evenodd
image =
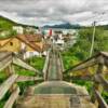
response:
<svg viewBox="0 0 108 108"><path fill-rule="evenodd" d="M92 71L92 75L86 76L73 76L78 71L82 71L83 69L89 69L90 67L96 66L96 71ZM108 69L108 53L100 52L99 54L67 69L64 71L64 75L69 75L71 80L84 80L84 81L93 81L93 95L94 102L98 106L98 108L108 108L107 103L104 100L102 96L102 92L108 92L108 79L105 79L105 76L108 76L108 71L104 73L104 67Z"/></svg>

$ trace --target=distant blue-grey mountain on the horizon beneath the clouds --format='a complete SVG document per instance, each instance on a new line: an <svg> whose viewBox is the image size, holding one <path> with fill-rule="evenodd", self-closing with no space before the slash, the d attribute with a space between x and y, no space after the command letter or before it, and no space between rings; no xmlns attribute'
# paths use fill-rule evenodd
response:
<svg viewBox="0 0 108 108"><path fill-rule="evenodd" d="M65 23L65 24L53 25L53 26L45 25L42 28L79 29L81 28L81 26L78 24L71 25L70 23Z"/></svg>

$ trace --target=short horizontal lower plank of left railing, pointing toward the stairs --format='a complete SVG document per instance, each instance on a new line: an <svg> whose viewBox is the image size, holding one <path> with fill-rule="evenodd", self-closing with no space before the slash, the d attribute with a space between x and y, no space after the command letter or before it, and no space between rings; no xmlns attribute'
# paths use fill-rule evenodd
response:
<svg viewBox="0 0 108 108"><path fill-rule="evenodd" d="M38 80L43 80L43 78L38 78L38 77L18 77L16 82L24 82L24 81L38 81Z"/></svg>

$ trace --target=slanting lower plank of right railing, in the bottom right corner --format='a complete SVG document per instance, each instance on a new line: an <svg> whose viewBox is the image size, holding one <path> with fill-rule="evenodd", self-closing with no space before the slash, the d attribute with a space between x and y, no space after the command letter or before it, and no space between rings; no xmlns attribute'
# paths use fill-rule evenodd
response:
<svg viewBox="0 0 108 108"><path fill-rule="evenodd" d="M104 100L104 98L102 97L102 95L99 94L98 91L95 91L95 96L96 96L97 102L99 104L99 108L108 108L108 105L106 104L106 102Z"/></svg>

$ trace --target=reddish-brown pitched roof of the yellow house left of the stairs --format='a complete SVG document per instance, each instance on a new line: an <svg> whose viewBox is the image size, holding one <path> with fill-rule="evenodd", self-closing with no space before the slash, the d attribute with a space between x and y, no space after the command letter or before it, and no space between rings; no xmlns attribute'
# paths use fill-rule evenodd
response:
<svg viewBox="0 0 108 108"><path fill-rule="evenodd" d="M35 51L43 52L45 50L43 42L37 42L39 39L41 40L42 35L17 35L16 37L5 39L4 44L0 48L5 46L14 38L17 38L18 40L21 40L22 42L24 42ZM4 41L4 39L0 41Z"/></svg>

